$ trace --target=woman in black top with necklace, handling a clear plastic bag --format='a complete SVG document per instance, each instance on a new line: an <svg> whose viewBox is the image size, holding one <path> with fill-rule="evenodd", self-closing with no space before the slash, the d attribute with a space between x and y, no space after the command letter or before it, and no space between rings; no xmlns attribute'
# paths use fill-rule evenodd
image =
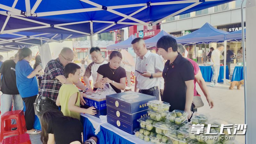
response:
<svg viewBox="0 0 256 144"><path fill-rule="evenodd" d="M122 63L121 52L113 51L109 56L109 63L101 65L97 72L97 80L94 84L96 88L104 88L109 83L116 93L125 89L126 72L120 67Z"/></svg>

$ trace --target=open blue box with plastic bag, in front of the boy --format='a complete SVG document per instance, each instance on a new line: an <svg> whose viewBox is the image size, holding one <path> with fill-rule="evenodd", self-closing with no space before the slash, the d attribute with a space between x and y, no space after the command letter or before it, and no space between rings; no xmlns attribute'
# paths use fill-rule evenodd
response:
<svg viewBox="0 0 256 144"><path fill-rule="evenodd" d="M100 117L107 115L107 104L106 99L93 99L93 98L85 98L85 105L81 106L81 108L89 108L89 107L95 107L96 113L94 116Z"/></svg>

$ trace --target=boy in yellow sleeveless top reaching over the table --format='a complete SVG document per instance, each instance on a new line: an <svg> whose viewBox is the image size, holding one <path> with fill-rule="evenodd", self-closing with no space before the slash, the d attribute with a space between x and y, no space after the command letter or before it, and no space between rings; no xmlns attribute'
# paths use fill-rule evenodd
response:
<svg viewBox="0 0 256 144"><path fill-rule="evenodd" d="M71 116L80 120L80 113L95 115L94 107L80 108L80 92L74 85L80 80L81 67L75 63L69 63L64 68L67 81L60 87L56 105L61 106L64 116Z"/></svg>

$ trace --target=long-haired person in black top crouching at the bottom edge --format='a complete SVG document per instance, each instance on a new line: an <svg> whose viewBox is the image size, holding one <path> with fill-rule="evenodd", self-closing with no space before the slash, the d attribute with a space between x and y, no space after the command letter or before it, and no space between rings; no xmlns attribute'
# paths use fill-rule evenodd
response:
<svg viewBox="0 0 256 144"><path fill-rule="evenodd" d="M81 122L76 118L64 116L60 110L46 111L41 118L41 124L41 141L43 144L83 143L83 125ZM86 144L96 144L96 142L96 137L91 137L85 141Z"/></svg>

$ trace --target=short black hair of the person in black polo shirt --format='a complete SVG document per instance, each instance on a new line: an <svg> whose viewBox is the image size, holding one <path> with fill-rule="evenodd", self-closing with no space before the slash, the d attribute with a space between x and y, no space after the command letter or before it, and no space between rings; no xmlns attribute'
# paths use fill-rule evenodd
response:
<svg viewBox="0 0 256 144"><path fill-rule="evenodd" d="M162 36L156 43L157 48L162 48L166 52L168 52L168 49L172 47L173 52L177 52L178 45L176 40L172 36Z"/></svg>

